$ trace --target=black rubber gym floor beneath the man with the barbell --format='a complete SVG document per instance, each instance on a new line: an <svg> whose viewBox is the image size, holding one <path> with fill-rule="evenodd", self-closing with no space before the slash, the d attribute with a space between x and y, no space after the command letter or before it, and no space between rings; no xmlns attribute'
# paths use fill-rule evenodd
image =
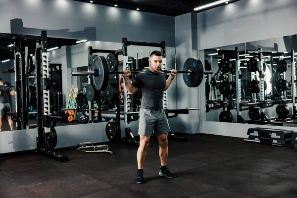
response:
<svg viewBox="0 0 297 198"><path fill-rule="evenodd" d="M176 178L158 176L152 139L144 167L145 184L135 184L137 148L107 143L114 154L59 149L68 162L43 155L0 158L1 198L295 198L297 150L244 142L240 138L187 135L169 141L168 168ZM103 144L103 143L102 143ZM101 144L100 144L101 145Z"/></svg>

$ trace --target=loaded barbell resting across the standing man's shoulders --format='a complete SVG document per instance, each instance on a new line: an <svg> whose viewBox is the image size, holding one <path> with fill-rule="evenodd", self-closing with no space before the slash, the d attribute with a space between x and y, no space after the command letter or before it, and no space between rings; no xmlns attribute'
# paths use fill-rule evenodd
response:
<svg viewBox="0 0 297 198"><path fill-rule="evenodd" d="M110 66L104 56L93 55L89 60L91 71L71 72L71 76L93 76L93 86L96 90L105 90L109 83L109 74L123 74L123 72L109 72ZM132 74L138 74L143 71L131 71ZM163 71L170 73L170 71ZM213 71L204 71L202 62L198 58L188 58L183 67L183 71L177 73L183 74L183 79L188 87L198 87L204 74L213 74Z"/></svg>

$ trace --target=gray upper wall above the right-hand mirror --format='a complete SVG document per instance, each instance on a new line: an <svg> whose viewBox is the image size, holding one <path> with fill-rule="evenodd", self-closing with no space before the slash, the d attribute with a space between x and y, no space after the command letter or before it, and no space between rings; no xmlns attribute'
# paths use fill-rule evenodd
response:
<svg viewBox="0 0 297 198"><path fill-rule="evenodd" d="M295 35L296 9L296 0L240 0L200 12L199 49Z"/></svg>

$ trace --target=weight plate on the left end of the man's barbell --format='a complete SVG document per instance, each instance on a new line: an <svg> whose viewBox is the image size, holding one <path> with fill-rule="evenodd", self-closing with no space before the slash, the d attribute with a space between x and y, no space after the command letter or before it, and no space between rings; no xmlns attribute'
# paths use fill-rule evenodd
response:
<svg viewBox="0 0 297 198"><path fill-rule="evenodd" d="M94 87L97 90L105 90L108 86L109 71L106 58L96 56L93 62L93 71L98 71L98 76L93 76Z"/></svg>

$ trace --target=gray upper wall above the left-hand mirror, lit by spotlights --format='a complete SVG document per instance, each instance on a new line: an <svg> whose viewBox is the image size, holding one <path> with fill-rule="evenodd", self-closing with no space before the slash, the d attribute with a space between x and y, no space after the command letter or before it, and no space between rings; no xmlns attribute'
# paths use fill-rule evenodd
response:
<svg viewBox="0 0 297 198"><path fill-rule="evenodd" d="M174 17L73 0L1 0L0 32L121 42L166 41L175 46ZM157 34L156 34L157 30Z"/></svg>

